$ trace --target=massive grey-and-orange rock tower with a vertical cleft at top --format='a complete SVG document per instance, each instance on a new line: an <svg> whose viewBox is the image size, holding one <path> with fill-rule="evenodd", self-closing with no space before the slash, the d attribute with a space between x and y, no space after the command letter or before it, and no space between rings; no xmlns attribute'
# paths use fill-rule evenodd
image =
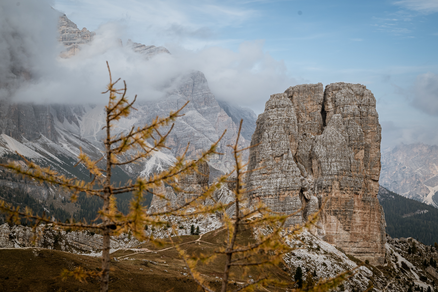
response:
<svg viewBox="0 0 438 292"><path fill-rule="evenodd" d="M318 234L374 264L385 256L385 216L378 203L381 127L364 85L303 84L271 95L258 116L247 176L250 205L304 222L324 205ZM316 232L314 230L313 232Z"/></svg>

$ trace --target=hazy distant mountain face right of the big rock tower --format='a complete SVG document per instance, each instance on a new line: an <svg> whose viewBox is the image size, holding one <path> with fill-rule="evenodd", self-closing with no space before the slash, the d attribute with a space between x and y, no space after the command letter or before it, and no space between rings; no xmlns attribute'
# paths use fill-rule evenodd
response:
<svg viewBox="0 0 438 292"><path fill-rule="evenodd" d="M379 183L404 197L438 208L438 146L401 144L381 158Z"/></svg>

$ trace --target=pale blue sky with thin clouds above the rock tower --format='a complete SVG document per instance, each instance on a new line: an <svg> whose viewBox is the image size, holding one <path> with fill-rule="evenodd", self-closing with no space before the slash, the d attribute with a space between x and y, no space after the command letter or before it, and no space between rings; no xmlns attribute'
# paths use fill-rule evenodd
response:
<svg viewBox="0 0 438 292"><path fill-rule="evenodd" d="M378 101L382 148L438 144L438 0L52 4L80 28L115 22L123 42L192 52L200 60L193 69L205 73L218 99L256 113L269 94L291 85L360 83ZM239 95L230 98L224 87Z"/></svg>

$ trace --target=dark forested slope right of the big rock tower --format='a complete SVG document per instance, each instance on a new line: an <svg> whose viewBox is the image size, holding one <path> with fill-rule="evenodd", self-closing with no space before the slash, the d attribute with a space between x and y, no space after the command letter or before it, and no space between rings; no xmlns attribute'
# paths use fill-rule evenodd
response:
<svg viewBox="0 0 438 292"><path fill-rule="evenodd" d="M386 233L392 238L413 237L426 245L438 242L437 208L382 187L379 189L379 202L385 211ZM427 212L415 214L418 210Z"/></svg>

